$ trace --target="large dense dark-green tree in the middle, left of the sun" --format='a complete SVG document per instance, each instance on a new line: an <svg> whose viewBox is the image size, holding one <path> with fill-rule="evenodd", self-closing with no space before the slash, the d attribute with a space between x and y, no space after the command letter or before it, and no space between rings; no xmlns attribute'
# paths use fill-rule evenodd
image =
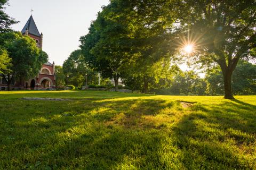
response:
<svg viewBox="0 0 256 170"><path fill-rule="evenodd" d="M92 61L89 63L93 63L92 66L103 77L114 78L116 90L118 79L127 78L127 74L122 73L131 69L124 65L131 63L134 66L134 61L145 61L142 65L146 69L147 64L157 63L166 56L166 53L162 53L166 46L163 46L161 36L168 31L163 27L163 19L158 20L163 15L160 9L165 2L111 1L98 14L89 34L81 38L85 58ZM145 69L137 69L137 73L141 71L145 74ZM147 76L143 76L143 79L147 89Z"/></svg>

